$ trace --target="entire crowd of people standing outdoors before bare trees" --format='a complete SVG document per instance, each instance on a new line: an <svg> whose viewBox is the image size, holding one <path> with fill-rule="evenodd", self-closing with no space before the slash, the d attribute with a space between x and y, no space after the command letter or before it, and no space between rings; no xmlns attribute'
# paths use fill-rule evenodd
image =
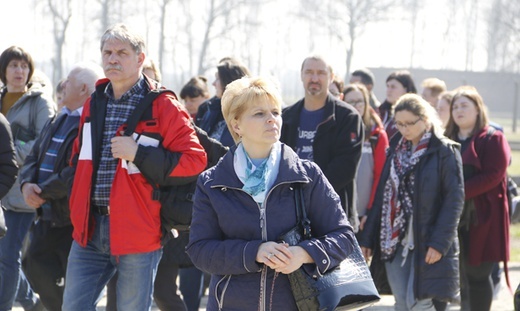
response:
<svg viewBox="0 0 520 311"><path fill-rule="evenodd" d="M208 310L297 310L288 275L323 275L355 240L395 310L491 309L511 154L477 89L431 78L418 95L400 70L380 102L368 69L346 83L311 55L303 97L284 103L226 57L213 97L194 76L126 133L168 86L126 25L100 41L102 67L74 65L54 99L26 50L0 55L0 311L95 310L105 293L107 310L196 311L206 293ZM166 241L155 189L194 182L190 229ZM313 235L288 245L296 189Z"/></svg>

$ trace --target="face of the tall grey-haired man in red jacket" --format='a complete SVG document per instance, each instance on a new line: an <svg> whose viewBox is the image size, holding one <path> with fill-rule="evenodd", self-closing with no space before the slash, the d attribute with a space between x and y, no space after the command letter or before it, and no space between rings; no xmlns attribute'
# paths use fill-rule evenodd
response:
<svg viewBox="0 0 520 311"><path fill-rule="evenodd" d="M138 55L130 43L117 39L107 40L101 53L105 76L112 83L135 83L144 61L144 53Z"/></svg>

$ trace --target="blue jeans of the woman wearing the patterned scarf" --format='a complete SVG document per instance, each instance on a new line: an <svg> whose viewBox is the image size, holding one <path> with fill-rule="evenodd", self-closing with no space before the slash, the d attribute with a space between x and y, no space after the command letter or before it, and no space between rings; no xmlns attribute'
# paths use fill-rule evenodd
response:
<svg viewBox="0 0 520 311"><path fill-rule="evenodd" d="M402 251L403 247L398 245L394 259L391 262L385 262L386 276L388 277L388 283L390 284L392 294L395 298L395 310L434 311L435 307L432 299L417 300L414 296L413 281L415 252L410 251L405 264L401 266L403 262Z"/></svg>

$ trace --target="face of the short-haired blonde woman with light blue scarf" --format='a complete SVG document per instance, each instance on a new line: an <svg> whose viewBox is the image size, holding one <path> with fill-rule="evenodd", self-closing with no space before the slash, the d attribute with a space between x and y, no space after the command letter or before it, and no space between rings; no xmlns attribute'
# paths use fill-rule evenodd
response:
<svg viewBox="0 0 520 311"><path fill-rule="evenodd" d="M274 103L260 100L250 104L238 119L232 121L232 125L244 146L269 150L280 139L282 112Z"/></svg>

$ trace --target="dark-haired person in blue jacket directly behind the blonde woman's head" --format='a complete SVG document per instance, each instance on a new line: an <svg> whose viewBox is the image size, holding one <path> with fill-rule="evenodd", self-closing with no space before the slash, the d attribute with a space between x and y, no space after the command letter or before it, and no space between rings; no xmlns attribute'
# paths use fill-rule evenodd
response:
<svg viewBox="0 0 520 311"><path fill-rule="evenodd" d="M205 109L200 109L195 119L195 124L208 133L211 138L221 142L224 146L231 147L235 145L229 130L226 127L226 121L222 116L220 99L226 90L226 86L244 76L249 76L249 70L238 60L232 57L226 57L217 65L215 73L215 97L207 101Z"/></svg>

